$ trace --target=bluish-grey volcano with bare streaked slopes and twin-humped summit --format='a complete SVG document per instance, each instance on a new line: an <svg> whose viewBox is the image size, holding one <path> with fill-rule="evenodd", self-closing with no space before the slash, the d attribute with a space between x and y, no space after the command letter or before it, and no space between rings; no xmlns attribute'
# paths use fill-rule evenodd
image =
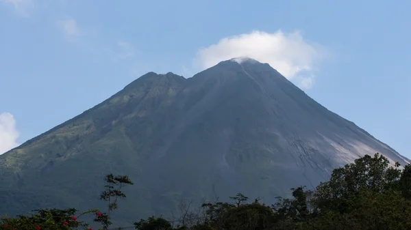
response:
<svg viewBox="0 0 411 230"><path fill-rule="evenodd" d="M170 214L180 200L272 203L379 152L409 160L332 113L269 64L231 59L184 78L149 72L101 104L0 156L0 214L104 207L107 173L129 175L114 218Z"/></svg>

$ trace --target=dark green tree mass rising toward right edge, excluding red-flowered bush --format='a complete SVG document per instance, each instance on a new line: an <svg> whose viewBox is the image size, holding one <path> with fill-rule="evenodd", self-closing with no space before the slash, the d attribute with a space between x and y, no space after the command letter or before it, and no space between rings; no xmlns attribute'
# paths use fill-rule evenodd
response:
<svg viewBox="0 0 411 230"><path fill-rule="evenodd" d="M316 190L292 188L292 198L266 206L238 193L234 203L203 203L203 217L186 229L411 229L411 167L389 166L379 154L335 169ZM155 221L150 222L151 229ZM162 219L164 223L164 219ZM180 223L181 224L181 223ZM146 225L148 226L148 225ZM170 225L166 225L170 229ZM179 226L181 228L181 226Z"/></svg>

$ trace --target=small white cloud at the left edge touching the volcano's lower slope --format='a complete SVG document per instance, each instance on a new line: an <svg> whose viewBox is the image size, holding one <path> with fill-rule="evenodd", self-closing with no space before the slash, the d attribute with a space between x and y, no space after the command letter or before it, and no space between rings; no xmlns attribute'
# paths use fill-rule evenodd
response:
<svg viewBox="0 0 411 230"><path fill-rule="evenodd" d="M16 147L18 132L16 121L10 113L0 113L0 154Z"/></svg>

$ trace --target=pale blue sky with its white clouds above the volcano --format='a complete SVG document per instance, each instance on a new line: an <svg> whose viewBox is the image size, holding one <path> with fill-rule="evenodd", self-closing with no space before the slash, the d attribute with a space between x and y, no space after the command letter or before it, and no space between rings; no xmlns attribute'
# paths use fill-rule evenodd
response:
<svg viewBox="0 0 411 230"><path fill-rule="evenodd" d="M146 72L268 62L411 158L411 1L0 0L0 152Z"/></svg>

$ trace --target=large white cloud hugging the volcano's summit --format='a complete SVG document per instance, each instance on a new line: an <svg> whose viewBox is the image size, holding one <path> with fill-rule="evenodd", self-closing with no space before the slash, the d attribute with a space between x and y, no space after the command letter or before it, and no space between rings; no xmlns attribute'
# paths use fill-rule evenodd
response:
<svg viewBox="0 0 411 230"><path fill-rule="evenodd" d="M210 68L220 61L234 57L250 57L295 81L299 87L308 89L314 84L316 65L325 56L325 48L307 42L299 31L275 33L252 31L221 39L217 44L201 48L195 58L195 65Z"/></svg>

